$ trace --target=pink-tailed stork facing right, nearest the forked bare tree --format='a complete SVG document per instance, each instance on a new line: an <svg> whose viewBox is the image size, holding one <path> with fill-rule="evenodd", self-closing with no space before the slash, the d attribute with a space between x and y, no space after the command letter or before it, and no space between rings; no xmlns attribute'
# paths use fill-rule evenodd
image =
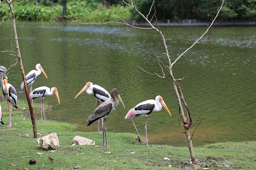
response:
<svg viewBox="0 0 256 170"><path fill-rule="evenodd" d="M125 118L131 119L131 122L133 122L133 126L138 134L138 141L141 143L141 138L138 133L138 130L134 124L135 118L139 116L146 116L146 123L145 123L145 130L146 130L146 145L148 146L147 142L147 117L149 116L150 113L155 112L155 111L161 111L163 107L167 110L167 112L171 115L171 112L167 108L167 105L163 101L163 97L161 96L156 96L155 100L146 100L142 101L142 103L137 104L134 108L130 109L130 111L126 114ZM142 144L142 143L141 143Z"/></svg>

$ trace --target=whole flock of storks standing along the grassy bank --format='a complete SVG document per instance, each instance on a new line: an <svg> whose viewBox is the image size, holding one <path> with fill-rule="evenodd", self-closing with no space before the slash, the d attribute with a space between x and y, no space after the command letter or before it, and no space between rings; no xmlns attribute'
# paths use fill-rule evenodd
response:
<svg viewBox="0 0 256 170"><path fill-rule="evenodd" d="M33 99L40 98L40 111L41 111L41 120L45 121L46 117L44 115L44 108L43 108L43 103L44 103L44 97L47 95L53 95L53 93L56 95L58 103L60 104L60 99L59 99L59 94L57 92L56 87L46 87L46 86L41 86L38 88L35 88L32 90L32 84L34 83L35 79L37 76L39 76L41 73L43 73L46 78L47 75L43 70L42 65L38 63L35 66L36 70L31 70L27 75L26 75L26 82L27 86L30 85L30 100L33 101ZM2 86L2 91L3 91L3 96L7 100L7 104L9 107L9 116L10 116L10 124L11 126L11 111L12 107L17 107L17 92L15 88L8 83L7 76L6 76L6 68L4 66L0 66L0 75L1 75L1 86ZM5 79L3 79L5 78ZM21 90L24 90L24 82L20 85ZM121 96L119 95L119 92L117 88L114 88L110 94L107 90L105 90L103 87L98 86L97 84L93 84L92 82L87 82L85 86L82 88L82 90L75 96L75 99L77 96L79 96L82 92L86 91L86 94L93 94L94 97L96 97L96 100L98 102L98 107L90 114L88 117L86 124L87 126L90 126L93 122L98 121L98 132L101 132L103 134L103 146L108 147L108 141L107 141L107 135L106 135L106 117L117 108L119 102L122 103L123 108L125 108L125 104L123 104L123 101L121 99ZM10 104L9 104L10 103ZM145 123L145 131L146 131L146 145L148 145L148 138L147 138L147 118L152 112L157 112L161 111L162 107L164 107L167 112L171 116L171 112L169 111L167 105L164 103L163 97L162 96L156 96L155 100L146 100L142 101L141 103L135 105L134 108L131 108L129 112L127 112L125 118L130 119L131 122L134 125L134 128L137 132L138 135L138 141L139 143L142 144L141 142L141 137L138 133L138 130L134 124L135 118L139 116L146 116L146 123ZM1 111L1 105L0 105L0 123L4 125L2 121L2 111ZM102 118L102 131L100 131L100 119Z"/></svg>

